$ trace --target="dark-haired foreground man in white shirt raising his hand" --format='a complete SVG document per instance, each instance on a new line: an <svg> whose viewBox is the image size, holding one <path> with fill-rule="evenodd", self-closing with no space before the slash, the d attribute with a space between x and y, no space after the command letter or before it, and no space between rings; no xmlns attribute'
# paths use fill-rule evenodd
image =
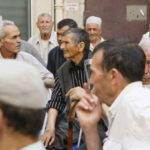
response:
<svg viewBox="0 0 150 150"><path fill-rule="evenodd" d="M143 87L145 55L137 45L113 45L109 41L94 50L90 83L76 107L88 150L101 150L97 123L101 102L110 106L108 138L103 150L149 150L150 91Z"/></svg>

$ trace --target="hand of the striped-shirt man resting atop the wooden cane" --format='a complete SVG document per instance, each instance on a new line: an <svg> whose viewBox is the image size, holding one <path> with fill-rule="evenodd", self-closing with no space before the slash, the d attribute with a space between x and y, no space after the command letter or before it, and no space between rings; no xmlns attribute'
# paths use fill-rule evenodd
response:
<svg viewBox="0 0 150 150"><path fill-rule="evenodd" d="M75 87L70 89L66 96L70 97L70 100L80 100L86 94L85 90L81 87Z"/></svg>

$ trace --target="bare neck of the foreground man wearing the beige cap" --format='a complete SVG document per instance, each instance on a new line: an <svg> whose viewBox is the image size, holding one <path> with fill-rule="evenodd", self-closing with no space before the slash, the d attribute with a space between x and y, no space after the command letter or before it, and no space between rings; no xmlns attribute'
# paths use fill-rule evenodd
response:
<svg viewBox="0 0 150 150"><path fill-rule="evenodd" d="M30 136L25 136L17 132L2 133L0 137L1 150L19 150L25 146L33 144L37 139L32 139Z"/></svg>

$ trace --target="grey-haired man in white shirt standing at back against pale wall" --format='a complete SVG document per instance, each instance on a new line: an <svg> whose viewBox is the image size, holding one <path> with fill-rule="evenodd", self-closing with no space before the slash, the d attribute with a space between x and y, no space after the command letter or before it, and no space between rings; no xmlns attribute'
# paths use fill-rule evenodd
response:
<svg viewBox="0 0 150 150"><path fill-rule="evenodd" d="M57 35L53 30L52 17L48 13L40 14L37 20L37 27L40 33L32 36L28 42L39 51L47 64L49 51L58 45Z"/></svg>

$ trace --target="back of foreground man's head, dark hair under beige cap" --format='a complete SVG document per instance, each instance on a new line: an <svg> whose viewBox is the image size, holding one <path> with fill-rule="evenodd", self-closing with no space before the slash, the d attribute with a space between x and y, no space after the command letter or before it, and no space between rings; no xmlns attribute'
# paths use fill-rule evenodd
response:
<svg viewBox="0 0 150 150"><path fill-rule="evenodd" d="M8 128L37 137L46 104L40 74L29 64L15 60L1 60L0 68L0 109Z"/></svg>

